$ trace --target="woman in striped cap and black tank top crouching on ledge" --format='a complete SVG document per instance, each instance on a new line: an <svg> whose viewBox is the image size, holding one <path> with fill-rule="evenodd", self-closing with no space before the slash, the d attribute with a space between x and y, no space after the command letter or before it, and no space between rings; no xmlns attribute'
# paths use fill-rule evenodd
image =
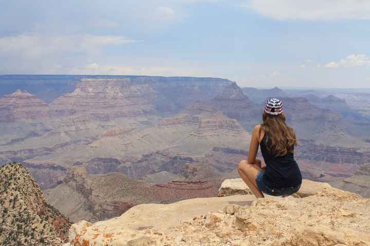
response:
<svg viewBox="0 0 370 246"><path fill-rule="evenodd" d="M302 175L293 154L297 139L285 122L282 101L269 99L262 119L263 123L253 129L248 160L238 165L239 175L257 198L264 197L263 193L292 195L300 189ZM266 167L256 158L258 145Z"/></svg>

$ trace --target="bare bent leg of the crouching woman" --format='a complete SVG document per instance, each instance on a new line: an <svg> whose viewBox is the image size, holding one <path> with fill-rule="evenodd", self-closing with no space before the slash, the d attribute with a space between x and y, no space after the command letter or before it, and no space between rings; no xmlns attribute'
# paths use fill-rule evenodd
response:
<svg viewBox="0 0 370 246"><path fill-rule="evenodd" d="M265 197L260 189L258 189L256 184L256 176L259 172L262 171L260 167L257 165L248 163L246 160L242 160L238 164L238 173L243 179L243 181L246 183L246 185L249 187L249 189L253 192L253 194L256 196L256 198L263 198Z"/></svg>

